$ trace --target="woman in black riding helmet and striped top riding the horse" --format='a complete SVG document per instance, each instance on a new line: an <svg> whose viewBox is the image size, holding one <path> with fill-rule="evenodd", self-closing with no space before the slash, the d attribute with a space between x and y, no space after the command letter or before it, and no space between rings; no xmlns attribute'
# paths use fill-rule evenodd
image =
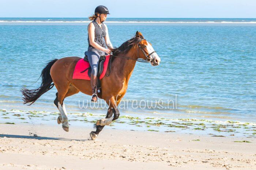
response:
<svg viewBox="0 0 256 170"><path fill-rule="evenodd" d="M108 27L103 24L106 20L107 15L110 14L108 8L105 6L98 6L95 8L95 14L90 16L89 19L92 22L88 25L88 51L85 52L85 55L88 56L88 60L91 66L91 88L92 96L91 102L97 102L97 74L98 74L98 65L99 57L102 55L110 54L113 48L108 34ZM106 48L106 46L108 48Z"/></svg>

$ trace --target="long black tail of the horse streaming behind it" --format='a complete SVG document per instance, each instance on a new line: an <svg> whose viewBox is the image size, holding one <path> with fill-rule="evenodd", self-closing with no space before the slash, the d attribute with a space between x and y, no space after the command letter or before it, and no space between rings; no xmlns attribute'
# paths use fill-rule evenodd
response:
<svg viewBox="0 0 256 170"><path fill-rule="evenodd" d="M40 77L42 77L42 83L38 89L29 90L25 87L22 88L21 92L22 92L22 95L24 96L23 104L30 103L30 102L31 103L29 105L33 104L35 102L35 100L37 100L42 94L44 94L46 91L53 88L54 83L52 83L53 81L52 81L52 77L50 75L50 68L57 60L58 59L51 60L50 62L48 62L45 65L45 68L42 70L41 75L40 75Z"/></svg>

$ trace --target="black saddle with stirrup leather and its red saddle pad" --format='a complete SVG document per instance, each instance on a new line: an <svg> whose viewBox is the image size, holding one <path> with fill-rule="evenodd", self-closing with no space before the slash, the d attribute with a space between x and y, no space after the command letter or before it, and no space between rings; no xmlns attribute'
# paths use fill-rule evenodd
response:
<svg viewBox="0 0 256 170"><path fill-rule="evenodd" d="M97 74L97 91L101 93L101 79L106 75L108 65L110 62L110 55L100 56L98 74ZM107 75L109 76L109 75ZM73 73L73 79L90 80L91 66L89 64L88 56L85 55L83 59L78 60Z"/></svg>

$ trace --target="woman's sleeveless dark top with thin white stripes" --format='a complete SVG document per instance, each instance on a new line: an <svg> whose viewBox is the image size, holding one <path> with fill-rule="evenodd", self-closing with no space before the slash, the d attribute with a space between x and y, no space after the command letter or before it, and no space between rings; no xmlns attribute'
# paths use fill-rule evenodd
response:
<svg viewBox="0 0 256 170"><path fill-rule="evenodd" d="M94 41L99 44L102 47L106 47L106 43L104 40L104 37L106 36L106 27L105 25L102 23L101 27L99 27L99 24L97 23L96 20L93 20L92 23L94 24L95 30L94 30ZM88 25L89 26L89 25ZM88 29L88 27L87 27ZM94 48L93 46L91 46L90 44L90 40L89 40L89 34L88 34L88 44L89 44L89 48ZM96 49L96 48L95 48Z"/></svg>

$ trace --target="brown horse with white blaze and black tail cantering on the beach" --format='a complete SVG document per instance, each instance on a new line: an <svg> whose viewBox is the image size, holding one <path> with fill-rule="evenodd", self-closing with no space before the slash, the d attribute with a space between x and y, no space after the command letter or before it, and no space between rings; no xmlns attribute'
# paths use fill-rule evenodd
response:
<svg viewBox="0 0 256 170"><path fill-rule="evenodd" d="M152 66L158 66L160 58L148 43L142 33L136 32L136 36L125 41L120 47L112 50L111 74L101 79L102 93L99 98L104 99L108 104L108 112L105 119L100 119L96 123L96 131L92 131L90 136L93 140L105 125L109 125L113 120L118 119L118 104L123 98L130 76L135 67L136 61L144 59ZM75 65L79 57L65 57L50 61L42 70L42 83L36 90L22 89L25 103L34 103L42 94L50 90L54 85L57 88L54 104L60 111L57 122L62 123L65 131L69 131L67 112L64 99L74 95L79 91L87 95L92 95L90 80L72 79ZM112 116L114 114L114 116Z"/></svg>

